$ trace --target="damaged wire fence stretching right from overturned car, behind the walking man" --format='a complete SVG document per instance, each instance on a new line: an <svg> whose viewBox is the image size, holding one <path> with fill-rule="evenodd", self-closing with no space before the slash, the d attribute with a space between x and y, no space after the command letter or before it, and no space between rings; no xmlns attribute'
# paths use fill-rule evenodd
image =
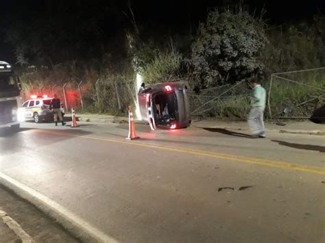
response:
<svg viewBox="0 0 325 243"><path fill-rule="evenodd" d="M263 86L267 90L266 118L309 118L325 103L325 67L273 73ZM250 95L245 81L191 92L191 114L245 119Z"/></svg>

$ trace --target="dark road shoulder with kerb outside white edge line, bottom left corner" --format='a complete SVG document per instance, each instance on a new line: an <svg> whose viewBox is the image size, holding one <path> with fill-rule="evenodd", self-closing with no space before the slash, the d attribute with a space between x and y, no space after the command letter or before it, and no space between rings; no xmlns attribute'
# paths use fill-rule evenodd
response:
<svg viewBox="0 0 325 243"><path fill-rule="evenodd" d="M57 222L1 185L0 212L0 242L78 242Z"/></svg>

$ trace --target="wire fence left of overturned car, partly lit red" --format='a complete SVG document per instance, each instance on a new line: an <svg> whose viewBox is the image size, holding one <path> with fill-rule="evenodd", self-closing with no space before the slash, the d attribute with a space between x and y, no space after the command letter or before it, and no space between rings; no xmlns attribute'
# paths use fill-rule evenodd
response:
<svg viewBox="0 0 325 243"><path fill-rule="evenodd" d="M23 99L32 94L58 95L67 111L72 108L78 112L96 112L109 114L127 114L128 106L135 100L134 82L111 79L97 79L95 82L67 81L63 84L38 86L23 84Z"/></svg>

